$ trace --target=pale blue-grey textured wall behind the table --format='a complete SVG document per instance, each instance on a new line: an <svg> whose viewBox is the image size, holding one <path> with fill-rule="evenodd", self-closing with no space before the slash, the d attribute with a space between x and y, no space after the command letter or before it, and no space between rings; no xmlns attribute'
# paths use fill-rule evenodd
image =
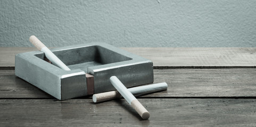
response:
<svg viewBox="0 0 256 127"><path fill-rule="evenodd" d="M256 1L0 0L0 46L256 47Z"/></svg>

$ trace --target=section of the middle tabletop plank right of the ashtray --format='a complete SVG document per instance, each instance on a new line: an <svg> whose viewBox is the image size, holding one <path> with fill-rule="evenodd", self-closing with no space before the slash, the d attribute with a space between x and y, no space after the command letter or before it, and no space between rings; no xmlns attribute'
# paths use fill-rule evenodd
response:
<svg viewBox="0 0 256 127"><path fill-rule="evenodd" d="M255 75L247 68L154 70L154 82L166 82L168 90L147 97L255 97Z"/></svg>

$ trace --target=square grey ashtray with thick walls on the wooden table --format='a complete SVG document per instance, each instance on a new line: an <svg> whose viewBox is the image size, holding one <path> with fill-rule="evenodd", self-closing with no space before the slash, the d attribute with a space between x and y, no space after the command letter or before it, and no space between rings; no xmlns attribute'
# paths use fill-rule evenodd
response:
<svg viewBox="0 0 256 127"><path fill-rule="evenodd" d="M15 56L15 75L57 99L114 90L117 76L126 87L153 83L153 62L106 43L87 43L51 49L71 70L51 64L41 51Z"/></svg>

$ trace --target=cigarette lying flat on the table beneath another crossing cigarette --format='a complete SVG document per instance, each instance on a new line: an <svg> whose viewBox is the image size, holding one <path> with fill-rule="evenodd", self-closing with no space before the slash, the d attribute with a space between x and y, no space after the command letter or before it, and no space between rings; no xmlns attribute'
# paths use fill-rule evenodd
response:
<svg viewBox="0 0 256 127"><path fill-rule="evenodd" d="M158 83L158 84L128 88L128 90L134 96L139 96L139 95L143 95L143 94L166 90L167 87L168 87L168 85L166 83ZM94 94L93 102L98 103L98 102L109 101L111 99L117 99L117 98L121 98L121 97L122 97L121 94L117 90L114 90L114 91L110 91L110 92Z"/></svg>

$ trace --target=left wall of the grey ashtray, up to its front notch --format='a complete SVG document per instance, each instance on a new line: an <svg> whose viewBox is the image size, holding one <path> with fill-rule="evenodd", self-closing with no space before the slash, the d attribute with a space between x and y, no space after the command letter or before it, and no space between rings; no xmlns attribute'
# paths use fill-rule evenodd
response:
<svg viewBox="0 0 256 127"><path fill-rule="evenodd" d="M87 95L85 72L80 69L65 71L35 56L39 51L15 56L15 75L44 90L57 99ZM79 80L73 80L73 79ZM72 89L70 89L72 87ZM70 94L70 92L74 92Z"/></svg>

